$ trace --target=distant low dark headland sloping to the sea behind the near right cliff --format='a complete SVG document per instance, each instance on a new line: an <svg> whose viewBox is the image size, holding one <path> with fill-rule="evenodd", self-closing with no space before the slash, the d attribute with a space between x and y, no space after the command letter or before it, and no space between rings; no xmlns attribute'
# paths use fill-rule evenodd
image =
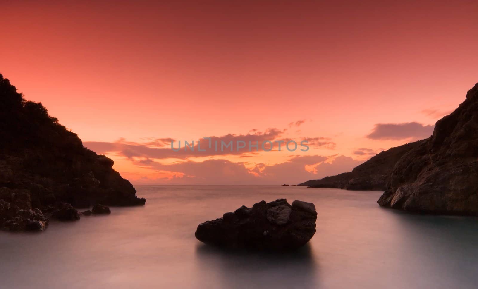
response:
<svg viewBox="0 0 478 289"><path fill-rule="evenodd" d="M356 166L351 172L309 180L299 186L328 187L359 191L384 191L390 185L391 172L397 161L424 141L392 147Z"/></svg>

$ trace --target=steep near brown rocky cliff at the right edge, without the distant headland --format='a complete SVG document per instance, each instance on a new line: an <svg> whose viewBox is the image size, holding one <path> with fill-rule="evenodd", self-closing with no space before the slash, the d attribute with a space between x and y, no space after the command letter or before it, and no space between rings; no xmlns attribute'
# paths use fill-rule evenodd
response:
<svg viewBox="0 0 478 289"><path fill-rule="evenodd" d="M380 206L405 211L478 215L478 83L435 124L433 135L393 169Z"/></svg>

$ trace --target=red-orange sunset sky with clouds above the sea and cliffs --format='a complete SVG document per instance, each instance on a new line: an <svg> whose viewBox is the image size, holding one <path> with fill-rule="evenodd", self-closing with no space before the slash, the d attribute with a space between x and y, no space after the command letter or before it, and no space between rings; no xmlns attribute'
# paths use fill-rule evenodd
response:
<svg viewBox="0 0 478 289"><path fill-rule="evenodd" d="M478 82L477 1L1 2L0 73L133 185L350 171ZM171 149L204 137L234 151Z"/></svg>

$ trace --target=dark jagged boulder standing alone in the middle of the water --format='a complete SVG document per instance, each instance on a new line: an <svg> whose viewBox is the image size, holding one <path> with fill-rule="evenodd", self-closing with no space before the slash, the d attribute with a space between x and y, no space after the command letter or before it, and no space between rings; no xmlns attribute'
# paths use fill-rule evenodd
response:
<svg viewBox="0 0 478 289"><path fill-rule="evenodd" d="M316 220L312 203L293 201L291 206L286 199L261 201L199 224L195 235L201 242L225 248L290 250L314 236Z"/></svg>

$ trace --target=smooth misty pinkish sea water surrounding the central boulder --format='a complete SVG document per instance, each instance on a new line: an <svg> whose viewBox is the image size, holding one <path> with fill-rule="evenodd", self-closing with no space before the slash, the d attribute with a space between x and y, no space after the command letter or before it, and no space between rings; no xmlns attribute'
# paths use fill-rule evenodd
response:
<svg viewBox="0 0 478 289"><path fill-rule="evenodd" d="M465 289L478 284L478 219L382 209L380 192L281 186L137 186L144 207L0 233L0 288ZM209 248L197 224L241 205L314 202L317 232L287 255Z"/></svg>

